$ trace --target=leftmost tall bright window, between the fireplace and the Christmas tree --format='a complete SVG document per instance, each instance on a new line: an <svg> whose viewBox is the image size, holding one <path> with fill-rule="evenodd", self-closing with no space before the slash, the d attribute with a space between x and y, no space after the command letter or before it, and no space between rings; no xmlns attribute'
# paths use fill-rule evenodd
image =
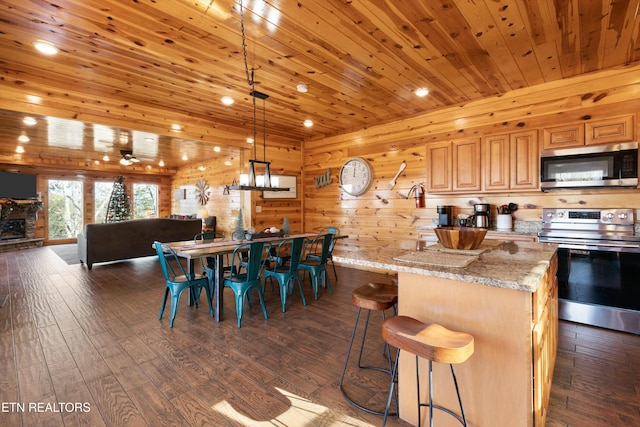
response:
<svg viewBox="0 0 640 427"><path fill-rule="evenodd" d="M50 179L48 194L48 238L75 239L83 225L82 182Z"/></svg>

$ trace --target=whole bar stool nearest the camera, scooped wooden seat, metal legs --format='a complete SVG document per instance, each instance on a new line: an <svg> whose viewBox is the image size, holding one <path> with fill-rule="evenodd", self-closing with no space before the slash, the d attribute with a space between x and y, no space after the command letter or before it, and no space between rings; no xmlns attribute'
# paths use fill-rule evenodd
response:
<svg viewBox="0 0 640 427"><path fill-rule="evenodd" d="M462 407L462 399L460 398L460 390L458 389L458 381L453 365L462 363L473 354L473 336L464 332L454 332L444 326L435 323L423 323L408 316L396 316L382 322L382 339L390 346L398 349L396 353L396 361L393 366L391 376L391 385L389 386L389 397L387 398L387 406L385 408L384 420L382 425L387 422L389 406L391 405L391 395L395 383L396 373L398 372L398 359L400 350L408 351L416 356L416 385L418 388L418 426L421 426L420 409L423 406L429 407L429 425L433 427L433 410L439 409L456 418L464 426L467 426L467 419L464 415ZM422 357L429 361L429 403L420 402L420 378L418 375L418 359ZM448 363L451 366L451 376L456 387L458 395L458 403L460 404L461 415L443 408L433 403L433 376L432 364Z"/></svg>

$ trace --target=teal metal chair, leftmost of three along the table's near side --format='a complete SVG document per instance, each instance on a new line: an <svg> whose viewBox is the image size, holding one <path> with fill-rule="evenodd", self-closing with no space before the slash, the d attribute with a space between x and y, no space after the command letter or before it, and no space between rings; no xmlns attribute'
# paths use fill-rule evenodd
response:
<svg viewBox="0 0 640 427"><path fill-rule="evenodd" d="M249 307L251 307L251 291L253 290L258 292L264 318L269 318L267 307L264 304L264 294L260 286L260 275L266 263L269 262L270 251L271 244L265 242L243 243L233 250L231 265L240 265L240 263L244 262L244 269L240 272L239 269L232 268L229 272L229 277L224 279L224 285L231 288L235 295L238 328L242 322L245 297ZM246 259L244 258L245 256Z"/></svg>

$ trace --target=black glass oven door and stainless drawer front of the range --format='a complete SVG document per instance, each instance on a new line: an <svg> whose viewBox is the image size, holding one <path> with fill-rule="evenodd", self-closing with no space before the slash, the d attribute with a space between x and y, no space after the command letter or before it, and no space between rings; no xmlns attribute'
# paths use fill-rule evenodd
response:
<svg viewBox="0 0 640 427"><path fill-rule="evenodd" d="M640 254L558 249L559 317L640 335Z"/></svg>

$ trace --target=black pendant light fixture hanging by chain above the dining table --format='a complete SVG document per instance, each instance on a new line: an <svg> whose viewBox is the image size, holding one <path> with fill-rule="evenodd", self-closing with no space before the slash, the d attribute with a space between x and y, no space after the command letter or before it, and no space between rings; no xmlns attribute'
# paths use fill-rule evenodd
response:
<svg viewBox="0 0 640 427"><path fill-rule="evenodd" d="M240 184L237 184L236 181L231 184L231 186L225 188L225 192L228 190L249 190L249 191L289 191L289 188L279 187L277 183L272 182L271 180L271 162L267 161L267 116L266 116L266 100L269 98L269 95L266 93L258 92L255 88L255 79L254 79L254 69L251 68L249 71L249 65L247 62L247 43L244 29L244 7L242 5L242 0L239 2L240 5L240 30L242 33L242 54L244 58L244 70L247 76L247 83L251 88L252 104L253 104L253 159L249 160L249 176L248 179L240 179ZM256 108L256 99L262 100L262 114L263 114L263 159L258 160L257 158L257 108ZM262 168L262 175L258 175L256 172L256 166Z"/></svg>

